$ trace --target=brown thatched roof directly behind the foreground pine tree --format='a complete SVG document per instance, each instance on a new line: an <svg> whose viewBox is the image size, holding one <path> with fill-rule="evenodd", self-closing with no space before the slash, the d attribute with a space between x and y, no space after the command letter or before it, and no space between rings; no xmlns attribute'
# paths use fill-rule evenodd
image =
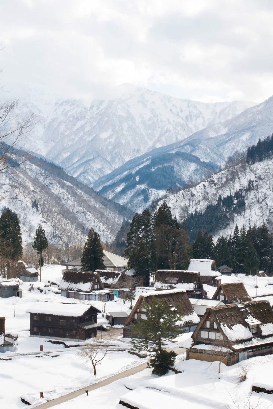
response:
<svg viewBox="0 0 273 409"><path fill-rule="evenodd" d="M142 305L145 300L147 303L152 302L154 298L160 299L166 302L167 308L176 308L178 314L182 315L181 325L189 326L191 324L197 324L199 322L199 317L197 316L192 304L187 296L185 290L164 290L164 291L153 291L142 294L138 297L138 301L135 303L129 317L126 319L124 326L128 325L129 322L134 319L135 313Z"/></svg>

